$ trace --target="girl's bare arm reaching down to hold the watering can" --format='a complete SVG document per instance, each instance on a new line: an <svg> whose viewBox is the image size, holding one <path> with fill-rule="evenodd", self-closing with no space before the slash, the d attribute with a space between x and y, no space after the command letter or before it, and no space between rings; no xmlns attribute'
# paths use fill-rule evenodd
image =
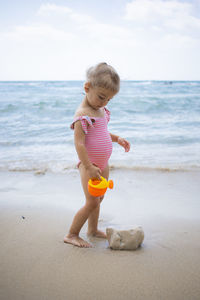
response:
<svg viewBox="0 0 200 300"><path fill-rule="evenodd" d="M101 169L94 166L88 158L87 150L85 148L85 133L80 121L77 121L74 124L74 144L81 163L89 172L89 177L101 180Z"/></svg>

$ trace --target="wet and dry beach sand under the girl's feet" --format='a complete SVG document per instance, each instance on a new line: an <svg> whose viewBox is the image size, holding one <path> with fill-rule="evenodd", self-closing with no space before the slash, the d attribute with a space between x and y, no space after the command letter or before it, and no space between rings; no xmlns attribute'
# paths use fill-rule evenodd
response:
<svg viewBox="0 0 200 300"><path fill-rule="evenodd" d="M200 173L113 170L99 227L141 225L136 251L81 236L63 243L84 204L77 170L0 173L0 299L200 299Z"/></svg>

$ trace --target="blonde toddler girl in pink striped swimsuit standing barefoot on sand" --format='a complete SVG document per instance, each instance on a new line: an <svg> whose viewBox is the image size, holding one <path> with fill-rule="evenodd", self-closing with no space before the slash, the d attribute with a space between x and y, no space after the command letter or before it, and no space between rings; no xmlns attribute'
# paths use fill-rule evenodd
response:
<svg viewBox="0 0 200 300"><path fill-rule="evenodd" d="M85 194L85 205L74 216L69 233L64 242L78 247L92 247L79 237L80 230L88 220L88 235L106 238L106 234L98 230L98 218L102 197L91 196L88 192L90 178L108 179L108 160L112 153L112 142L116 142L125 151L130 144L125 139L108 132L107 123L110 112L105 107L118 93L120 78L116 71L106 63L100 63L87 71L84 84L85 97L78 107L71 128L74 129L74 144L79 157L79 172Z"/></svg>

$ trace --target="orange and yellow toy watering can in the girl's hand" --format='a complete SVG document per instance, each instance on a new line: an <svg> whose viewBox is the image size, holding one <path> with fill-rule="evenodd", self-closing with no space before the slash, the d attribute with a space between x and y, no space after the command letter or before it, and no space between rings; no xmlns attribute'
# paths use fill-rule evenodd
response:
<svg viewBox="0 0 200 300"><path fill-rule="evenodd" d="M94 197L103 196L107 188L113 189L113 181L107 181L104 177L101 176L101 180L90 179L88 181L88 191L90 195Z"/></svg>

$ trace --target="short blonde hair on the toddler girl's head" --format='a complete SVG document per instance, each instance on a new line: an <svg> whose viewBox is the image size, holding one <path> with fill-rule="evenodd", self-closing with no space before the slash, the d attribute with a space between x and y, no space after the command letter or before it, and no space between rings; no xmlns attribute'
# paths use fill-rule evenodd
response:
<svg viewBox="0 0 200 300"><path fill-rule="evenodd" d="M102 87L115 93L119 92L119 75L112 66L105 62L89 68L86 72L86 78L92 87Z"/></svg>

